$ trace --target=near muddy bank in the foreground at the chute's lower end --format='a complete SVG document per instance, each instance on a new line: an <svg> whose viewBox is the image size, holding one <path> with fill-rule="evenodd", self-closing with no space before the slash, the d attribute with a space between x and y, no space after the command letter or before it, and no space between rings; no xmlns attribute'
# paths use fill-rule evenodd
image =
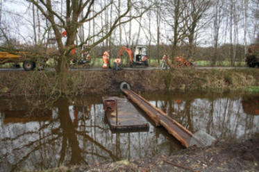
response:
<svg viewBox="0 0 259 172"><path fill-rule="evenodd" d="M172 156L145 157L49 171L259 171L259 137L240 144L218 141L207 148L187 148Z"/></svg>

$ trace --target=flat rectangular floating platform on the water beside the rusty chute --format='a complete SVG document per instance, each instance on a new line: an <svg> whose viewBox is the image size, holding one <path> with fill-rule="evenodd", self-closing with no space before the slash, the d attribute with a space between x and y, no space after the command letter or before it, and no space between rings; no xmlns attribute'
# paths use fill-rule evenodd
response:
<svg viewBox="0 0 259 172"><path fill-rule="evenodd" d="M149 130L149 123L127 98L103 97L103 109L112 131Z"/></svg>

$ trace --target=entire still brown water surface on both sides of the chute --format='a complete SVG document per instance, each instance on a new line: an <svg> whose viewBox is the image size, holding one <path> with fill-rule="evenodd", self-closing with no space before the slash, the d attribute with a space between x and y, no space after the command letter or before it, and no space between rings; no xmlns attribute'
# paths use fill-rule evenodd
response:
<svg viewBox="0 0 259 172"><path fill-rule="evenodd" d="M259 94L156 92L142 96L193 133L203 130L216 139L242 141L259 132ZM22 97L0 99L0 171L131 160L183 149L143 112L149 130L111 132L101 96L62 99L47 110L32 104Z"/></svg>

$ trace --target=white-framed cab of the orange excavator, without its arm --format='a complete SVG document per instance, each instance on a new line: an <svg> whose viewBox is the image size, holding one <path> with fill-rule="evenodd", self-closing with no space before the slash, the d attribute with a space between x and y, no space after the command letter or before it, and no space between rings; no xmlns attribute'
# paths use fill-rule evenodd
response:
<svg viewBox="0 0 259 172"><path fill-rule="evenodd" d="M147 47L146 46L135 46L135 53L134 53L134 57L133 57L133 65L148 66Z"/></svg>

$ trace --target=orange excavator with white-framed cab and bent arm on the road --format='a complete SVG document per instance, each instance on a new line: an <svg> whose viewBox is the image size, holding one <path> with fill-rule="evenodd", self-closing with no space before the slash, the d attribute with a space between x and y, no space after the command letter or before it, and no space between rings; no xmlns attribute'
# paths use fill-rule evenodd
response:
<svg viewBox="0 0 259 172"><path fill-rule="evenodd" d="M125 46L122 46L119 50L118 57L121 58L122 53L126 51L128 53L128 56L130 58L130 65L131 67L135 67L136 65L144 65L146 67L149 66L148 60L147 60L147 47L146 46L135 46L135 52L134 55L132 54L131 49L126 48Z"/></svg>

